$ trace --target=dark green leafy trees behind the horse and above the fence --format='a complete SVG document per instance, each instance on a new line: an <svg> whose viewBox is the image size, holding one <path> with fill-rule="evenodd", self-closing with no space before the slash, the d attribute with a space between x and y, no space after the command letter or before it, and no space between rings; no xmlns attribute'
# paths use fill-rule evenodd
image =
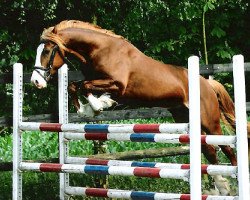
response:
<svg viewBox="0 0 250 200"><path fill-rule="evenodd" d="M41 32L65 19L96 23L124 36L145 54L177 65L186 65L193 54L206 63L205 28L208 63L231 62L234 54L249 61L249 15L248 0L1 0L0 73L11 72L15 62L32 71ZM231 82L230 75L219 78ZM53 111L51 90L28 88L27 113ZM44 94L48 100L40 108ZM0 85L0 97L0 114L11 114L10 85Z"/></svg>

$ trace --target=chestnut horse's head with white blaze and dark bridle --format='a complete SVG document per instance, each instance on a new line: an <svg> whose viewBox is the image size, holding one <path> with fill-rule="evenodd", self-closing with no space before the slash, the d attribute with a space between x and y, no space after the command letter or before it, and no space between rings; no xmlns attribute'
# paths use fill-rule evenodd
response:
<svg viewBox="0 0 250 200"><path fill-rule="evenodd" d="M45 88L47 82L64 63L64 52L51 41L41 43L37 47L35 69L31 82L39 89Z"/></svg>

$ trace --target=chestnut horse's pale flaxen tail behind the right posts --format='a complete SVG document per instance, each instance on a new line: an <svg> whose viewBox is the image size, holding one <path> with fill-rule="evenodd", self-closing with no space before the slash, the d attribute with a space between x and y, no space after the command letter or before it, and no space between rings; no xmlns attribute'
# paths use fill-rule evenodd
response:
<svg viewBox="0 0 250 200"><path fill-rule="evenodd" d="M228 92L224 88L222 84L215 80L208 80L208 83L212 86L213 90L215 91L220 111L221 111L221 120L229 125L233 130L236 128L235 123L235 107L233 100L229 96ZM250 141L250 123L247 123L247 134L248 134L248 141Z"/></svg>

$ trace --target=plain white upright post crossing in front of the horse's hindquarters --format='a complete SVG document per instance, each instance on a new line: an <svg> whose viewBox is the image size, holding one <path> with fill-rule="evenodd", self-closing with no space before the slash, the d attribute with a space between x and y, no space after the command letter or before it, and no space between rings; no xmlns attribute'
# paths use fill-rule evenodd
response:
<svg viewBox="0 0 250 200"><path fill-rule="evenodd" d="M190 125L190 195L201 199L201 120L199 58L188 58L189 125Z"/></svg>

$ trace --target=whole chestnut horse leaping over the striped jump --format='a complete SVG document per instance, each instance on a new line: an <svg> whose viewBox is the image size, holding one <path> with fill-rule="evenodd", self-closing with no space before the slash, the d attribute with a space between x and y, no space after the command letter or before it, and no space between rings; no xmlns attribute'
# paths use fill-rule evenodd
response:
<svg viewBox="0 0 250 200"><path fill-rule="evenodd" d="M76 21L62 21L45 29L37 48L31 82L45 88L57 70L74 55L83 65L86 77L80 85L72 82L69 93L78 113L84 105L78 100L78 90L87 96L95 112L112 106L116 101L128 105L168 108L175 122L188 122L188 71L184 67L154 60L129 41L99 26ZM221 135L220 120L235 129L234 103L225 88L215 80L200 77L202 134ZM100 98L95 95L109 93ZM248 132L250 128L248 129ZM232 165L237 165L234 151L220 146ZM202 152L211 164L218 164L216 148L202 145ZM214 177L222 195L228 185L220 176Z"/></svg>

